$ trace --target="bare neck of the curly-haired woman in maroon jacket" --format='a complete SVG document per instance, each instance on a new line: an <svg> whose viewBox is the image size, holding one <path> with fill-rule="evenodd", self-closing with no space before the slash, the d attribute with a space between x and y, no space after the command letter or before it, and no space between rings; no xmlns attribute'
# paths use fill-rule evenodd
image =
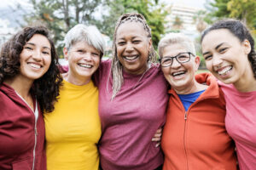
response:
<svg viewBox="0 0 256 170"><path fill-rule="evenodd" d="M8 84L11 88L14 88L23 99L31 97L30 89L32 88L33 82L32 80L27 80L19 76L4 81L4 83Z"/></svg>

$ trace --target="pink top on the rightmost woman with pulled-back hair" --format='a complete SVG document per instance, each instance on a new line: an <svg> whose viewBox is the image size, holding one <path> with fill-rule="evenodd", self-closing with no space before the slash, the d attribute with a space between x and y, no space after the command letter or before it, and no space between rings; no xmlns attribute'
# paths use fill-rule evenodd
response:
<svg viewBox="0 0 256 170"><path fill-rule="evenodd" d="M256 91L241 93L232 84L219 82L226 100L225 126L235 140L241 170L256 167Z"/></svg>

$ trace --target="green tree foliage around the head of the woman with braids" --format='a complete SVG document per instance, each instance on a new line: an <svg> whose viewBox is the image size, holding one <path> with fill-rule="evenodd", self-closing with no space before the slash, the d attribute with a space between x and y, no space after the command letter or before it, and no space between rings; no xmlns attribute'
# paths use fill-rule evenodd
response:
<svg viewBox="0 0 256 170"><path fill-rule="evenodd" d="M137 12L143 14L152 30L154 48L160 41L160 35L165 33L164 4L153 0L108 0L106 3L109 14L102 16L102 21L96 22L96 26L109 37L113 38L113 31L119 16L124 13Z"/></svg>

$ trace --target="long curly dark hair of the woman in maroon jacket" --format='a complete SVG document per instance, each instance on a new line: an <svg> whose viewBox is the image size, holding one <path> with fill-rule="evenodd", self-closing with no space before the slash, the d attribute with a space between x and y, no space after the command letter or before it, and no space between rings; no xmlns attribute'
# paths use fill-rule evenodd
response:
<svg viewBox="0 0 256 170"><path fill-rule="evenodd" d="M11 37L8 42L3 43L0 55L0 85L5 79L15 77L20 73L20 53L26 42L35 34L43 35L49 40L51 63L44 76L33 82L31 93L38 99L41 111L51 112L54 110L54 103L59 96L62 77L58 69L58 55L54 42L50 38L48 29L44 26L25 27Z"/></svg>

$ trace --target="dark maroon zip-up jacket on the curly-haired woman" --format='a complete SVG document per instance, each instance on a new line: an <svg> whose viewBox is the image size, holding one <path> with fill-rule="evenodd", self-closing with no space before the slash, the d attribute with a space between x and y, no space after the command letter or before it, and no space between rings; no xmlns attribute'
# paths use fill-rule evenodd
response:
<svg viewBox="0 0 256 170"><path fill-rule="evenodd" d="M4 83L0 85L0 169L46 169L44 118L39 105L36 122L31 108Z"/></svg>

